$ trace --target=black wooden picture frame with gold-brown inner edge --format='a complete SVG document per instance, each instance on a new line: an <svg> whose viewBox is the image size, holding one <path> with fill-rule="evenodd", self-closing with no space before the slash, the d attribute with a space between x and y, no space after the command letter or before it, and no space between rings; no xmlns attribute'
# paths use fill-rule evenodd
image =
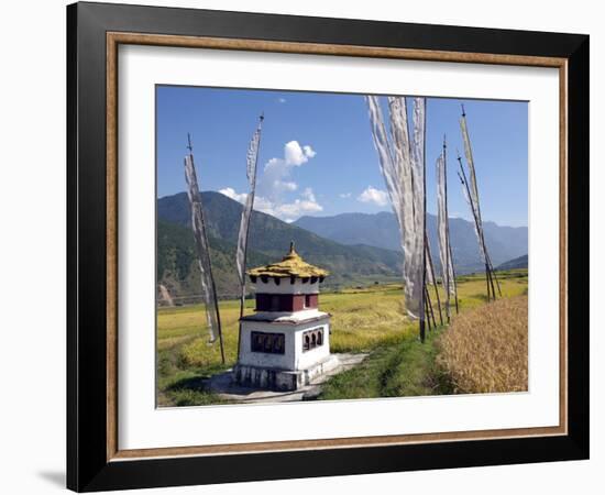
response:
<svg viewBox="0 0 605 495"><path fill-rule="evenodd" d="M309 34L312 33L312 34ZM558 427L120 450L118 46L556 67L560 74ZM100 491L588 457L588 36L76 3L67 8L67 486Z"/></svg>

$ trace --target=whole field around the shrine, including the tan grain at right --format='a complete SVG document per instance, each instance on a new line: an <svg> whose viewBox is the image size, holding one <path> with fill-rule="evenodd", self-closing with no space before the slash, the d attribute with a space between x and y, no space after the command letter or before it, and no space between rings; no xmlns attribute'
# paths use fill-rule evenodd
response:
<svg viewBox="0 0 605 495"><path fill-rule="evenodd" d="M331 352L369 352L370 356L362 365L331 378L319 398L430 395L469 392L469 387L472 392L499 392L503 387L508 387L507 392L524 389L522 385L518 385L522 382L522 372L519 376L510 374L507 378L496 378L492 376L492 367L496 370L501 366L504 370L506 366L498 362L496 355L487 361L482 358L487 348L502 351L506 346L494 346L495 340L522 341L524 331L527 349L527 297L524 297L527 294L527 271L501 272L498 277L503 297L496 304L486 302L484 277L476 275L458 278L460 315L453 317L450 327L439 324L431 287L439 328L429 334L425 344L420 344L417 339L418 323L405 316L400 285L376 284L366 288L320 294L320 309L332 316ZM439 293L443 301L441 288ZM246 314L253 312L253 300L246 300ZM157 310L160 406L222 403L218 396L204 389L204 378L235 363L239 311L239 301L220 304L227 356L223 365L219 343L208 343L202 306ZM455 315L453 307L452 315ZM509 332L506 331L508 327ZM464 358L460 345L470 350ZM522 362L522 342L515 340L508 346L514 356L501 354L501 361L514 360L509 366L518 370ZM491 369L481 369L473 362L473 355ZM527 364L527 350L525 360ZM469 374L473 373L479 373L481 378L470 381ZM498 372L494 373L497 375ZM527 382L527 366L525 380Z"/></svg>

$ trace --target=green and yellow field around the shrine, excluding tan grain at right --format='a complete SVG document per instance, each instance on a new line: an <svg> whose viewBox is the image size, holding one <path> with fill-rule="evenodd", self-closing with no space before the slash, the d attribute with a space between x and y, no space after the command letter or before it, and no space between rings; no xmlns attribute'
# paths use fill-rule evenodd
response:
<svg viewBox="0 0 605 495"><path fill-rule="evenodd" d="M498 278L505 298L522 295L527 290L527 271L502 272ZM460 277L458 289L461 314L485 306L484 277ZM441 287L439 292L443 301ZM323 388L321 398L431 395L448 389L447 381L431 370L435 367L437 337L449 330L432 332L421 345L417 340L418 323L405 316L400 284L372 284L333 293L322 292L319 301L320 308L332 316L331 352L370 353L360 366L332 377ZM246 300L245 314L252 314L253 307L254 301ZM202 381L235 363L239 312L239 301L220 302L227 358L226 365L222 365L219 343L208 343L202 306L158 309L160 406L223 403L204 388ZM438 311L436 318L439 323ZM430 378L427 378L429 374Z"/></svg>

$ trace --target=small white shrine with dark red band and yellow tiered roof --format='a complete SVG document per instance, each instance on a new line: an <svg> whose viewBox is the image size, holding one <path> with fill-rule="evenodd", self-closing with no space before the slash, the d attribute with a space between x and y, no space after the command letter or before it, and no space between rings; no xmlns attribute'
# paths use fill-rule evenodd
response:
<svg viewBox="0 0 605 495"><path fill-rule="evenodd" d="M290 243L280 262L246 272L256 296L254 315L240 319L240 385L296 391L333 369L330 315L319 310L326 270L305 262Z"/></svg>

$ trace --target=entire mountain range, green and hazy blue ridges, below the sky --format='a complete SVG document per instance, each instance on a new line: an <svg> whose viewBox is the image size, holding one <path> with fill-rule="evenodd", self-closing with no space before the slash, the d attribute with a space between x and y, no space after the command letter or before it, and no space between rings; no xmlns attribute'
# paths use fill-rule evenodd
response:
<svg viewBox="0 0 605 495"><path fill-rule="evenodd" d="M212 271L220 297L237 297L235 245L242 205L227 196L205 191L202 208L210 243ZM190 230L187 195L179 193L157 200L157 280L173 296L199 294L199 272ZM427 216L429 240L437 267L436 217ZM473 226L450 219L450 234L459 273L482 268ZM527 253L527 229L485 223L486 242L494 266ZM309 263L330 271L326 284L352 285L362 280L398 277L402 256L395 216L343 213L334 217L302 217L294 223L253 211L248 266L280 260L290 241ZM438 268L437 268L438 270Z"/></svg>

